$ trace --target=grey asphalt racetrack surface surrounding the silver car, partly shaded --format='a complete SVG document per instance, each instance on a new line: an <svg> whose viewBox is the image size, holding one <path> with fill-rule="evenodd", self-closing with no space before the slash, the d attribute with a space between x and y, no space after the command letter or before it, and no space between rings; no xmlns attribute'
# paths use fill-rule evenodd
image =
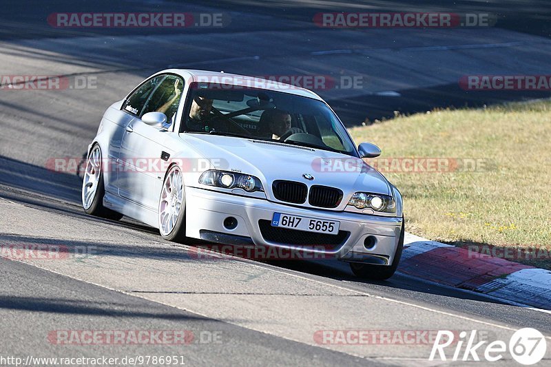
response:
<svg viewBox="0 0 551 367"><path fill-rule="evenodd" d="M305 20L319 6L302 4L271 9L232 1L216 6L5 2L1 74L84 76L93 83L62 91L0 91L1 244L52 244L69 253L59 260L0 260L0 356L182 355L189 366L432 366L443 362L427 360L430 344L324 344L315 335L446 329L477 330L491 340L508 341L518 328L532 327L549 339L549 313L403 275L363 282L340 263L200 258L195 247L165 242L154 229L132 220L85 215L79 177L45 168L51 158L80 158L105 108L145 76L171 65L253 75L359 75L366 80L361 89L320 91L352 125L400 108L413 112L424 104L453 105L459 101L461 75L545 74L551 54L545 27L536 23L529 27L532 32L514 22L488 29L325 30ZM544 3L532 4L537 6ZM232 22L223 30L189 32L67 31L45 23L52 12L152 8L222 11ZM424 98L428 94L434 103ZM548 94L486 94L472 101L534 96ZM377 107L375 112L370 106ZM55 331L114 330L185 330L195 338L185 345L60 345L48 338ZM505 357L494 364L518 365Z"/></svg>

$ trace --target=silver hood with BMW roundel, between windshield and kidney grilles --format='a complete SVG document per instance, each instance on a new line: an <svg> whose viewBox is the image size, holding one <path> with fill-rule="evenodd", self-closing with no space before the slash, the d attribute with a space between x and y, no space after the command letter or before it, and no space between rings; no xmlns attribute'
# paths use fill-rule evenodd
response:
<svg viewBox="0 0 551 367"><path fill-rule="evenodd" d="M180 134L214 166L257 176L264 189L274 180L342 189L344 197L355 191L391 195L388 181L362 159L345 154L265 140L208 134ZM306 180L304 174L313 176Z"/></svg>

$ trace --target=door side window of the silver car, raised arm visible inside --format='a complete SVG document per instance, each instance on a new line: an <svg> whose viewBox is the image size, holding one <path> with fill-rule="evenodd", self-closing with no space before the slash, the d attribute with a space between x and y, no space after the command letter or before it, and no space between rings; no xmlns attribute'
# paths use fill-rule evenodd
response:
<svg viewBox="0 0 551 367"><path fill-rule="evenodd" d="M183 79L179 76L168 75L147 101L141 116L147 114L147 112L163 112L167 115L167 123L172 123L180 104L183 84Z"/></svg>

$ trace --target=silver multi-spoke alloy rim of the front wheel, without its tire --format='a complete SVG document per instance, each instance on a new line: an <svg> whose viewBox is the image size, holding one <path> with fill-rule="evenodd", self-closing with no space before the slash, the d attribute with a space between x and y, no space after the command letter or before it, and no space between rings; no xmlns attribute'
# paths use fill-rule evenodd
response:
<svg viewBox="0 0 551 367"><path fill-rule="evenodd" d="M182 172L177 166L170 169L159 200L159 230L162 235L169 235L174 229L180 208L184 200L184 185Z"/></svg>

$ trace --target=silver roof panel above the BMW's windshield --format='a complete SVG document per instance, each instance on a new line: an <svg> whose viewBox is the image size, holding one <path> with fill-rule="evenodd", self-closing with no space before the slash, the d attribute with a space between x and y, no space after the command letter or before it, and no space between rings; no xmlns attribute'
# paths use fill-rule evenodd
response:
<svg viewBox="0 0 551 367"><path fill-rule="evenodd" d="M238 74L230 74L225 72L212 72L209 70L189 70L189 69L168 69L158 72L157 74L173 73L186 77L191 76L193 81L206 82L206 83L220 83L229 85L239 85L244 87L258 88L262 90L273 90L275 92L283 92L288 94L295 94L296 96L304 96L314 98L319 101L323 101L318 94L315 94L311 90L307 90L302 87L295 87L286 83L280 83L278 81L268 80L265 78L257 78L256 76L246 76ZM274 76L275 78L276 76Z"/></svg>

